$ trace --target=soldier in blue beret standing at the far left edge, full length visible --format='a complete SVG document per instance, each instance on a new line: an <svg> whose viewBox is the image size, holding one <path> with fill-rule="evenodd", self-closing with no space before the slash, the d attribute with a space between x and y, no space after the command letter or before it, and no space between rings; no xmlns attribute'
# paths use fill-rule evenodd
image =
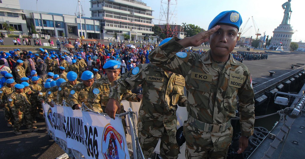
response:
<svg viewBox="0 0 305 159"><path fill-rule="evenodd" d="M9 74L9 73L6 73ZM5 75L6 75L5 74ZM14 117L12 114L12 110L9 108L9 106L7 105L7 97L13 93L13 91L15 90L15 80L14 79L7 79L5 81L6 85L4 85L1 89L0 89L0 102L1 102L1 106L3 107L3 111L4 111L4 118L5 121L7 122L7 126L8 127L12 127L12 122L14 121Z"/></svg>

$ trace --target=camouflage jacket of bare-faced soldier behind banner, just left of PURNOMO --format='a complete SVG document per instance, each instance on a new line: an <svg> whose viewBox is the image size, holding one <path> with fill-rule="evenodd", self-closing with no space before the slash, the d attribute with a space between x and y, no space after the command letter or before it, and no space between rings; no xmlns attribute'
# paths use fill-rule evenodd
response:
<svg viewBox="0 0 305 159"><path fill-rule="evenodd" d="M119 79L120 77L117 77ZM95 81L92 85L92 90L90 91L89 94L89 99L88 102L91 104L92 108L102 108L106 107L108 101L109 101L109 90L110 90L110 82L108 80L107 76L104 76L97 81ZM126 92L123 93L124 98L127 101L132 101L132 102L139 102L140 99L137 97L137 94L131 93L131 90L126 90ZM121 99L118 100L120 105L121 104ZM94 109L95 111L98 111ZM102 110L99 109L99 112L103 112ZM120 112L117 112L120 114Z"/></svg>

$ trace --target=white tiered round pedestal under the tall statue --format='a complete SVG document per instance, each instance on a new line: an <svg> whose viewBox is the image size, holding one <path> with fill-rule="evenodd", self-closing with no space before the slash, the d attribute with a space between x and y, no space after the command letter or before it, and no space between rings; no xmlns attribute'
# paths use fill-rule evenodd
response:
<svg viewBox="0 0 305 159"><path fill-rule="evenodd" d="M273 31L270 42L271 47L283 47L285 51L290 51L290 43L292 40L293 29L290 24L280 24ZM282 44L281 44L282 43Z"/></svg>

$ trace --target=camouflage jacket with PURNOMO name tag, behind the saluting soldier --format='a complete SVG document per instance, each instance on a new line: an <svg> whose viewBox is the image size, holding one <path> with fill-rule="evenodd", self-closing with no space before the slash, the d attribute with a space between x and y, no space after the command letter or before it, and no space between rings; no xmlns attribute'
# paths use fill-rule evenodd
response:
<svg viewBox="0 0 305 159"><path fill-rule="evenodd" d="M163 69L152 64L140 64L113 81L109 98L118 101L127 89L142 84L143 99L139 110L141 131L162 136L164 128L169 135L177 130L177 104L185 106L184 78L173 73L169 76ZM147 126L147 127L146 127Z"/></svg>

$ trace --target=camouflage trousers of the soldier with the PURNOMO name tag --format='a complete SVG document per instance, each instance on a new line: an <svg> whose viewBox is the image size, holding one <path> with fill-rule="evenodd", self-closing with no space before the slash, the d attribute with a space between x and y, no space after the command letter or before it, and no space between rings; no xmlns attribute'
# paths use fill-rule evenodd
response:
<svg viewBox="0 0 305 159"><path fill-rule="evenodd" d="M145 124L147 124L147 126L154 125L153 122L145 122ZM170 159L178 158L178 154L180 154L180 147L176 141L176 132L171 132L168 134L167 130L163 127L163 129L159 129L159 131L163 132L162 135L156 136L155 133L150 133L152 131L143 131L143 127L145 127L143 126L143 123L141 121L138 122L138 137L145 158L148 158L152 155L159 139L161 139L161 157Z"/></svg>

